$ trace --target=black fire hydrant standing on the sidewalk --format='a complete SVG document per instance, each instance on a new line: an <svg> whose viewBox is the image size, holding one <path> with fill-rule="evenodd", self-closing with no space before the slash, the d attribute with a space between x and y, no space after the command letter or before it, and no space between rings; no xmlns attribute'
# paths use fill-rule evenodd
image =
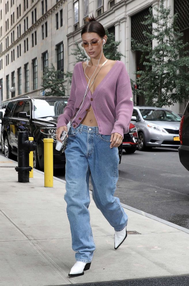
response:
<svg viewBox="0 0 189 286"><path fill-rule="evenodd" d="M36 149L36 143L29 141L27 131L18 131L18 167L15 170L18 172L18 182L29 182L29 171L32 167L29 166L29 152Z"/></svg>

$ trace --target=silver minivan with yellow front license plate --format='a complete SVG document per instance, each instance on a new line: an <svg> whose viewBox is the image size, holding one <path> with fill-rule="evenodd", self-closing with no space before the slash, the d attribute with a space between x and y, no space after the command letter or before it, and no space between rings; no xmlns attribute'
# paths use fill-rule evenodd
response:
<svg viewBox="0 0 189 286"><path fill-rule="evenodd" d="M158 107L134 106L132 121L138 131L138 149L179 147L181 117L171 110Z"/></svg>

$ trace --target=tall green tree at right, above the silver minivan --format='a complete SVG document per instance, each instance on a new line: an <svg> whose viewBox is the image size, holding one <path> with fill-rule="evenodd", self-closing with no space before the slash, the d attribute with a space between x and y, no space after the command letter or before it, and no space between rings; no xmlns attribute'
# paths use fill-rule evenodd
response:
<svg viewBox="0 0 189 286"><path fill-rule="evenodd" d="M183 44L183 33L178 32L177 15L171 17L170 7L163 4L160 0L159 8L154 7L157 13L153 15L150 7L145 16L145 42L131 39L132 50L142 52L140 63L145 66L144 71L134 73L139 75L136 94L144 95L146 105L158 107L182 102L189 94L189 51L184 51L188 43ZM152 33L148 32L150 28ZM152 40L156 42L153 49Z"/></svg>

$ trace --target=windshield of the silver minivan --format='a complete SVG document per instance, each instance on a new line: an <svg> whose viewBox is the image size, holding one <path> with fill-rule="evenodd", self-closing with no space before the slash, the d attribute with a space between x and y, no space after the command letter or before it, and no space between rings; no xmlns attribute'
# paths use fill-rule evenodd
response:
<svg viewBox="0 0 189 286"><path fill-rule="evenodd" d="M181 117L171 110L140 109L144 120L150 121L180 121Z"/></svg>

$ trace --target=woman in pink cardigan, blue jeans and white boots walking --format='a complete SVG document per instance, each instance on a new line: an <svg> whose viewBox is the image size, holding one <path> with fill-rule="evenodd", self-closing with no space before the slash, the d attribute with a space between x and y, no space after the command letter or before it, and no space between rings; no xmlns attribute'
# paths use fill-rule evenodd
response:
<svg viewBox="0 0 189 286"><path fill-rule="evenodd" d="M72 248L76 251L76 263L69 276L83 275L90 268L95 250L88 211L90 172L94 202L115 230L115 249L127 236L128 219L114 192L118 180L118 146L129 130L133 112L130 79L124 63L104 56L107 35L93 15L81 36L90 61L74 67L70 97L64 114L58 117L56 130L57 140L61 141L61 133L67 131L67 123L73 118L65 150L65 201Z"/></svg>

